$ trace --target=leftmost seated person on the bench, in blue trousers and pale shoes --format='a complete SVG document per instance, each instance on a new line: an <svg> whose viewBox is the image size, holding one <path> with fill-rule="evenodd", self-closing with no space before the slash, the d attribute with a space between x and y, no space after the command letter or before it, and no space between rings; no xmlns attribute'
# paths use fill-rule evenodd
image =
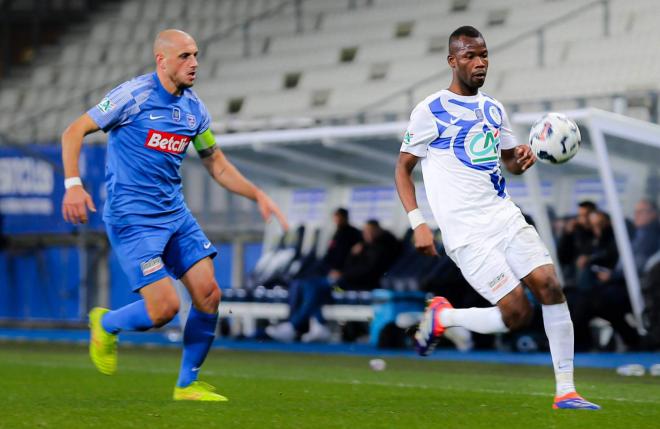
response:
<svg viewBox="0 0 660 429"><path fill-rule="evenodd" d="M291 282L289 287L289 320L266 328L266 334L278 341L291 342L304 332L311 319L315 336L330 336L325 328L321 306L329 299L328 272L342 270L351 249L361 242L362 233L350 224L349 213L338 208L333 214L336 229L328 250L319 264L306 271L302 278ZM313 335L313 336L314 336ZM307 338L307 337L306 337Z"/></svg>

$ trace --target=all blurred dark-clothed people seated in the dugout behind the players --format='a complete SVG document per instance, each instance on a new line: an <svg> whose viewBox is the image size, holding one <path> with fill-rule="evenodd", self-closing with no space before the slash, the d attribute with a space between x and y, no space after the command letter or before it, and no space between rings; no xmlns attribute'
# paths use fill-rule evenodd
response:
<svg viewBox="0 0 660 429"><path fill-rule="evenodd" d="M350 223L349 212L334 212L335 232L322 258L289 283L289 318L269 326L271 338L291 342L324 342L331 330L321 308L332 302L332 292L371 291L389 288L398 273L416 277L416 288L446 296L457 307L490 304L467 284L460 270L443 252L438 234L439 258L415 255L410 231L397 239L376 220L362 230ZM533 221L528 218L533 224ZM642 282L645 302L640 337L630 305L623 265L609 215L591 201L579 204L577 215L554 221L559 269L575 326L576 350L640 350L660 347L660 221L656 204L647 199L635 205L627 222L635 268ZM412 269L411 267L416 268ZM533 297L530 294L533 301ZM545 341L540 311L530 327L509 335L510 348L542 348ZM607 327L603 335L603 327ZM492 336L475 335L474 344L492 347ZM506 337L506 336L505 336ZM506 338L505 338L506 340ZM502 341L498 339L497 341ZM530 343L531 342L531 343ZM521 345L522 344L522 345ZM501 345L501 344L500 344Z"/></svg>

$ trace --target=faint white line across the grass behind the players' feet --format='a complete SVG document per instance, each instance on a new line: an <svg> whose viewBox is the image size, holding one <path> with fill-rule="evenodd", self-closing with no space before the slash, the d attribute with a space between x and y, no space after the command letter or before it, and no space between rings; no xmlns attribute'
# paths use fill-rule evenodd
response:
<svg viewBox="0 0 660 429"><path fill-rule="evenodd" d="M38 366L42 368L70 368L70 369L94 369L91 364L74 364L70 362L54 363L54 362L30 362L26 363L24 361L5 361L15 365L25 365L25 366ZM138 368L138 367L122 367L122 372L146 372L150 374L177 374L176 370L168 370L164 368ZM386 382L386 381L364 381L364 380L319 380L309 377L292 377L292 376L273 376L273 375L243 375L243 374L226 374L220 373L213 370L204 370L205 375L224 377L224 378L238 378L238 379L257 379L262 378L266 380L280 380L280 381L297 381L297 382L309 382L314 381L318 383L325 384L348 384L348 385L368 385L368 386L380 386L380 387L398 387L403 389L424 389L424 390L445 390L451 392L473 392L473 393L490 393L496 395L522 395L522 396L543 396L543 397L552 397L552 392L511 392L510 390L500 390L500 389L456 389L449 386L429 386L426 384L414 384L414 383L397 383L397 382ZM633 402L637 404L657 404L660 405L660 401L650 401L644 399L630 399L630 398L621 398L621 397L610 397L610 396L589 396L593 400L602 400L602 401L616 401L616 402Z"/></svg>

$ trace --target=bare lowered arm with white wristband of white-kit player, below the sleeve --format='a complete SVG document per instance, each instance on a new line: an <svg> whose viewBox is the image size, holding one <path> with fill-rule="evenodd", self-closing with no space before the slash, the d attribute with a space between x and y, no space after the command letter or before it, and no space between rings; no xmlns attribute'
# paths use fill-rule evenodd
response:
<svg viewBox="0 0 660 429"><path fill-rule="evenodd" d="M399 199L408 214L411 226L414 227L415 247L425 255L435 256L438 252L433 241L433 232L431 232L431 228L424 222L419 212L415 195L415 183L412 179L412 172L418 159L411 153L399 152L399 160L394 172L394 182L399 193Z"/></svg>

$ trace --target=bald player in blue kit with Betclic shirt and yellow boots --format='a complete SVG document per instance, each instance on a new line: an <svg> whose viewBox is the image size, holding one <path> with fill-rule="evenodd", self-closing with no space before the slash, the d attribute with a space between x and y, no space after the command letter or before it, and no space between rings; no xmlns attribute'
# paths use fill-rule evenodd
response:
<svg viewBox="0 0 660 429"><path fill-rule="evenodd" d="M268 220L286 219L263 191L248 181L216 147L204 103L190 89L197 73L197 45L179 30L165 30L154 42L156 72L125 82L76 119L62 134L66 193L62 215L85 223L95 211L80 180L78 158L85 135L109 133L107 201L103 220L110 243L134 292L142 300L117 310L89 314L90 356L103 374L117 368L117 335L159 327L179 311L170 276L192 298L183 333L183 356L175 400L226 401L197 380L218 319L220 289L213 263L217 250L183 200L179 167L190 143L213 179L231 192L257 202Z"/></svg>

